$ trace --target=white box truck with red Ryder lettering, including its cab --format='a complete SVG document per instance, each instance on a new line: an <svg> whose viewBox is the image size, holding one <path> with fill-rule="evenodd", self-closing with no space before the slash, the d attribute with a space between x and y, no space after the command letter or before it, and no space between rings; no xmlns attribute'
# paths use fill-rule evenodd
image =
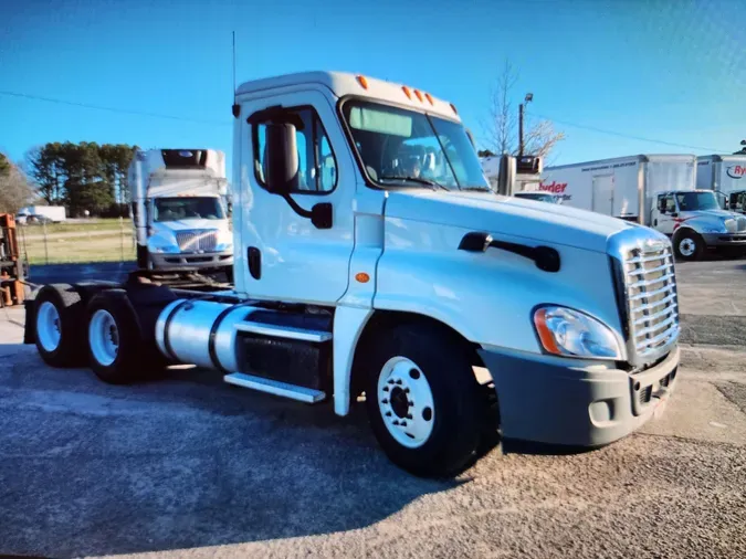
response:
<svg viewBox="0 0 746 559"><path fill-rule="evenodd" d="M707 247L746 246L746 218L722 210L712 190L696 190L695 177L695 156L638 155L547 167L537 190L653 228L684 260Z"/></svg>

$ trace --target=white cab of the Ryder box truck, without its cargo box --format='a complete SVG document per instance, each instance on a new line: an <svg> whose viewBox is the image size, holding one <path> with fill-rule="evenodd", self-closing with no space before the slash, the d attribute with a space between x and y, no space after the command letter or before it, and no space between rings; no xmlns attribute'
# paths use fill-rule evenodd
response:
<svg viewBox="0 0 746 559"><path fill-rule="evenodd" d="M712 190L656 193L651 223L683 260L697 260L707 246L746 246L746 218L724 210Z"/></svg>

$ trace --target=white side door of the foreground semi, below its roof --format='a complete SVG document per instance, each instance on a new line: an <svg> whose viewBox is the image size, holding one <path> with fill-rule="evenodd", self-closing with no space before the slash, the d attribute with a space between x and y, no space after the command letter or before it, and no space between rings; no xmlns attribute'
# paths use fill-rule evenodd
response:
<svg viewBox="0 0 746 559"><path fill-rule="evenodd" d="M266 123L262 115L281 107L296 126L297 187L290 198L311 210L332 204L332 226L319 229L301 217L264 181ZM274 108L273 108L274 110ZM271 114L271 112L270 112ZM252 117L252 115L254 115ZM305 91L256 99L242 105L241 208L233 209L241 226L241 262L235 287L251 297L333 304L348 284L354 247L354 161L334 108L321 92ZM249 119L252 124L249 124ZM239 270L239 267L241 270Z"/></svg>

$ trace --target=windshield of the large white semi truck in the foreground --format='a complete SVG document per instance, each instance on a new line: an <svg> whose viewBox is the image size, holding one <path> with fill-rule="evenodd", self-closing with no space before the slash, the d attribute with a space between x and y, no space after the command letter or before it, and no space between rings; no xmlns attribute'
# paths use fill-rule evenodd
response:
<svg viewBox="0 0 746 559"><path fill-rule="evenodd" d="M461 124L358 99L346 102L343 114L366 173L377 184L490 191Z"/></svg>

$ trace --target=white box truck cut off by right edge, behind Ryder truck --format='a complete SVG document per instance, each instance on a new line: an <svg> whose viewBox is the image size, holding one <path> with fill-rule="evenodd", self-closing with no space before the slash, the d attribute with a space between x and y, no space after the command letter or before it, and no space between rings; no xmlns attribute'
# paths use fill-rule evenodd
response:
<svg viewBox="0 0 746 559"><path fill-rule="evenodd" d="M727 209L746 213L746 155L696 158L696 186L724 194Z"/></svg>

